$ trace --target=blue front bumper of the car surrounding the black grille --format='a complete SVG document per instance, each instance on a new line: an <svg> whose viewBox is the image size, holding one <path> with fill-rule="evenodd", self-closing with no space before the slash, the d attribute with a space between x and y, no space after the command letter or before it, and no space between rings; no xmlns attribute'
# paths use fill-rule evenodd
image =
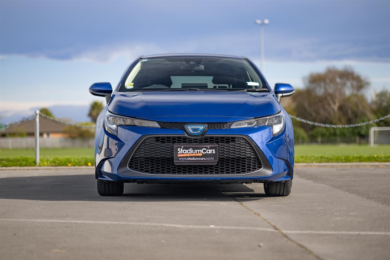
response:
<svg viewBox="0 0 390 260"><path fill-rule="evenodd" d="M270 126L207 130L205 137L237 136L244 137L250 142L259 155L263 166L261 170L252 173L230 175L147 174L132 171L128 167L128 162L138 144L150 136L185 136L184 130L120 126L118 135L115 136L106 132L103 120L99 120L95 138L96 178L106 181L138 183L248 183L290 180L293 178L294 167L292 132L292 126L288 122L284 131L275 137L272 136Z"/></svg>

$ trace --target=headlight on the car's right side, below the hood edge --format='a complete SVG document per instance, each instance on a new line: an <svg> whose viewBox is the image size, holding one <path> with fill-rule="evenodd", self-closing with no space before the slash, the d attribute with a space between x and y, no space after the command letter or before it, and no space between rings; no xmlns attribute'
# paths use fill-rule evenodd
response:
<svg viewBox="0 0 390 260"><path fill-rule="evenodd" d="M264 118L254 118L245 121L237 121L230 126L230 128L247 127L247 126L261 126L270 125L272 126L272 134L277 135L284 129L284 114L280 113L273 116L266 116Z"/></svg>

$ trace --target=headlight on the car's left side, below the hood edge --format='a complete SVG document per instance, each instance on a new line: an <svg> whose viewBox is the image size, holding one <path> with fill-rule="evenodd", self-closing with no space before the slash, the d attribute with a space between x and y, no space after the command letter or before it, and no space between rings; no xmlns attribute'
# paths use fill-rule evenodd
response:
<svg viewBox="0 0 390 260"><path fill-rule="evenodd" d="M142 120L137 118L128 118L125 116L118 116L111 114L110 112L106 112L104 116L104 125L106 130L113 134L117 135L117 128L120 125L137 125L137 126L147 126L147 127L158 127L160 128L160 125L158 125L155 121L148 121L148 120Z"/></svg>

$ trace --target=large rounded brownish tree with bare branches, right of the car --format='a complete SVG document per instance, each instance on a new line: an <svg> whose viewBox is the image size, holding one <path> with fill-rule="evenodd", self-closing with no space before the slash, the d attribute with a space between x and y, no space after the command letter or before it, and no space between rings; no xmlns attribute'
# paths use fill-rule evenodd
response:
<svg viewBox="0 0 390 260"><path fill-rule="evenodd" d="M330 124L357 123L372 118L363 91L369 82L351 68L327 68L324 73L310 73L305 79L304 99L298 105L307 116Z"/></svg>

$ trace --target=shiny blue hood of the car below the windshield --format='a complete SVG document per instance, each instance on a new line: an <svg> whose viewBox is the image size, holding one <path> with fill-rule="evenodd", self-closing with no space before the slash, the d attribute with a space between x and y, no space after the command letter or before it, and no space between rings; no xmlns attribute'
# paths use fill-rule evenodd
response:
<svg viewBox="0 0 390 260"><path fill-rule="evenodd" d="M219 91L118 92L107 108L122 116L189 123L237 121L281 110L271 93Z"/></svg>

